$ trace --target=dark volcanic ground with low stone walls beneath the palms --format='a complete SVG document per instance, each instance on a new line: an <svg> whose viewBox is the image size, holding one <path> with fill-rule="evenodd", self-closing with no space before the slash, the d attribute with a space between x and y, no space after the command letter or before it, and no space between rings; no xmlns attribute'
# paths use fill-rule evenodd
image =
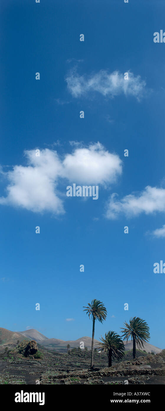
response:
<svg viewBox="0 0 165 411"><path fill-rule="evenodd" d="M25 358L16 349L0 353L0 384L165 384L165 350L153 355L126 351L124 361L113 361L94 353L94 371L90 371L90 351L66 353L39 348L42 358ZM126 381L127 380L127 381Z"/></svg>

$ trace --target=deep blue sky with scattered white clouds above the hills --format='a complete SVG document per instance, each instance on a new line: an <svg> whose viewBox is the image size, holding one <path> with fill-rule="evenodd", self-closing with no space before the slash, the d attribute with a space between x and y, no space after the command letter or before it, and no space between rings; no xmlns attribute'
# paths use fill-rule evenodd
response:
<svg viewBox="0 0 165 411"><path fill-rule="evenodd" d="M158 0L2 1L1 327L91 336L82 307L96 298L108 316L95 338L140 316L165 347L153 271L165 262L164 12ZM99 199L67 197L73 183Z"/></svg>

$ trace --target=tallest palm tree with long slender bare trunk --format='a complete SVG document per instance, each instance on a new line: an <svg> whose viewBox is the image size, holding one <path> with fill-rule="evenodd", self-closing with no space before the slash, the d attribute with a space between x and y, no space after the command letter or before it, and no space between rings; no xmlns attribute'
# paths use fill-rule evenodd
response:
<svg viewBox="0 0 165 411"><path fill-rule="evenodd" d="M91 349L91 369L94 368L94 325L95 325L95 321L99 320L100 323L103 323L103 321L106 319L107 316L107 310L103 305L103 302L99 301L99 300L92 300L92 303L89 304L87 307L83 307L85 308L83 311L87 311L87 314L89 316L92 316L92 321L93 321L93 328L92 328L92 349Z"/></svg>

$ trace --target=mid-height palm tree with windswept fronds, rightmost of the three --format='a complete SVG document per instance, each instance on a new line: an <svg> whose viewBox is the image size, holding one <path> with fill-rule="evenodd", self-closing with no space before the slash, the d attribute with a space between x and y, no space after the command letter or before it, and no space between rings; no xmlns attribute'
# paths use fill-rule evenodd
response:
<svg viewBox="0 0 165 411"><path fill-rule="evenodd" d="M142 320L139 317L130 318L130 322L124 323L126 328L121 328L121 332L123 332L124 340L126 339L126 343L128 342L128 338L131 337L131 341L133 340L133 359L135 360L136 357L136 345L137 349L140 350L144 347L144 343L149 341L150 334L149 334L149 326L146 321Z"/></svg>

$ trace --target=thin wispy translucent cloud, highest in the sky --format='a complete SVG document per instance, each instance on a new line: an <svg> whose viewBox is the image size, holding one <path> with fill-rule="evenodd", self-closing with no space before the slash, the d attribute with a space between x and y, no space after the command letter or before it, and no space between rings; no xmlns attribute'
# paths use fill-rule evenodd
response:
<svg viewBox="0 0 165 411"><path fill-rule="evenodd" d="M128 76L129 79L125 80L124 74L118 71L109 73L107 70L100 70L90 76L80 76L73 69L66 76L66 82L73 97L87 95L89 92L99 92L105 97L124 94L126 96L132 95L139 100L144 94L146 82L139 75L134 76L130 71Z"/></svg>

